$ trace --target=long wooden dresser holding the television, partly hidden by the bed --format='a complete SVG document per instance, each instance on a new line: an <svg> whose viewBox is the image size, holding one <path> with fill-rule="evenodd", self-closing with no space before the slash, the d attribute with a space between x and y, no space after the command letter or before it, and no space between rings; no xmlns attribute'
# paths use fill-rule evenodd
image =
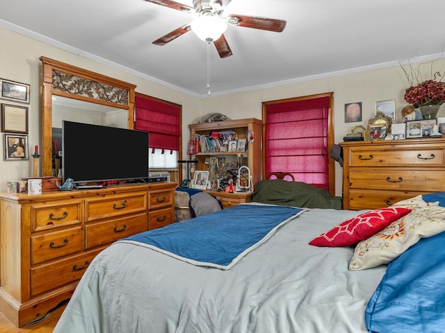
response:
<svg viewBox="0 0 445 333"><path fill-rule="evenodd" d="M0 310L22 326L70 298L113 241L175 221L176 186L0 194Z"/></svg>

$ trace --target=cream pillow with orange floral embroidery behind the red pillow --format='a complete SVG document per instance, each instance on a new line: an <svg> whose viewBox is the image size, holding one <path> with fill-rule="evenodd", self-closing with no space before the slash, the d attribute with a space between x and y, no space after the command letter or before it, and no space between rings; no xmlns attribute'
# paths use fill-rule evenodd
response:
<svg viewBox="0 0 445 333"><path fill-rule="evenodd" d="M445 231L445 208L419 207L387 228L360 241L349 263L351 271L388 264L423 237Z"/></svg>

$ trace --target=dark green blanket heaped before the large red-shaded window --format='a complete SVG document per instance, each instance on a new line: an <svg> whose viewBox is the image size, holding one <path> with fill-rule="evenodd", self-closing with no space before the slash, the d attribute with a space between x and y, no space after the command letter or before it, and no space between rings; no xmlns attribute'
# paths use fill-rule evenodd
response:
<svg viewBox="0 0 445 333"><path fill-rule="evenodd" d="M332 196L325 189L319 189L305 182L287 182L281 179L258 182L254 187L252 201L273 205L341 210L341 197Z"/></svg>

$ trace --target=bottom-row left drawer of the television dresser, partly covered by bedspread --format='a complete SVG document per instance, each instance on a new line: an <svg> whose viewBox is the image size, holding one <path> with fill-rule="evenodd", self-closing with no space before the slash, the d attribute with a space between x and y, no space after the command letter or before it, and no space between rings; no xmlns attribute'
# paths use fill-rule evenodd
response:
<svg viewBox="0 0 445 333"><path fill-rule="evenodd" d="M101 250L102 248L31 268L31 296L80 280L92 259Z"/></svg>

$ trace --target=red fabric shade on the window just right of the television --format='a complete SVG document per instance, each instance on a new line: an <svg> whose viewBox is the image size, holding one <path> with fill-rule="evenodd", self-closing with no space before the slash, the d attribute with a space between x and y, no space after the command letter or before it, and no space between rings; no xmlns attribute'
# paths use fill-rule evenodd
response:
<svg viewBox="0 0 445 333"><path fill-rule="evenodd" d="M150 148L179 151L181 105L135 97L134 128L149 132Z"/></svg>

